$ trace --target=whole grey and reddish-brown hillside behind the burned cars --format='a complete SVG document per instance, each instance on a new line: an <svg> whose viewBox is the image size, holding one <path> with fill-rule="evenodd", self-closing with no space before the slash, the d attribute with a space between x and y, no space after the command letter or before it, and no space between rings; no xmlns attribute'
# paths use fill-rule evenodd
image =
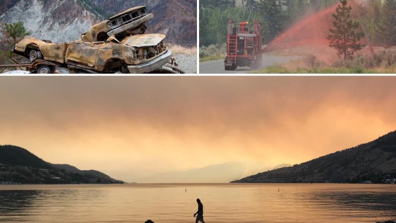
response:
<svg viewBox="0 0 396 223"><path fill-rule="evenodd" d="M151 33L167 41L196 43L196 0L0 0L0 22L22 21L31 36L53 42L81 38L90 26L134 6L147 5L154 14Z"/></svg>

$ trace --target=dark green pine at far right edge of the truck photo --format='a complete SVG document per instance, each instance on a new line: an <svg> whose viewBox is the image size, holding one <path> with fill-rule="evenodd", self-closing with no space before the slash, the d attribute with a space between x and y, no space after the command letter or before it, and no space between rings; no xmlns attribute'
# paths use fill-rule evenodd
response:
<svg viewBox="0 0 396 223"><path fill-rule="evenodd" d="M388 46L396 45L396 0L385 0L381 9L377 37Z"/></svg>

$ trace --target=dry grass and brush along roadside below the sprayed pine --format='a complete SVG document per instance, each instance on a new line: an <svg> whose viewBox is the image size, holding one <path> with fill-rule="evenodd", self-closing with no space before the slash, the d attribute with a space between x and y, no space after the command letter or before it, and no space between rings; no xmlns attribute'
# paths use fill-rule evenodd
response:
<svg viewBox="0 0 396 223"><path fill-rule="evenodd" d="M306 47L274 50L265 55L299 55L301 59L280 63L259 72L264 73L373 73L394 74L396 72L396 47L384 49L374 47L374 54L369 47L356 52L352 60L339 58L334 49L329 47Z"/></svg>

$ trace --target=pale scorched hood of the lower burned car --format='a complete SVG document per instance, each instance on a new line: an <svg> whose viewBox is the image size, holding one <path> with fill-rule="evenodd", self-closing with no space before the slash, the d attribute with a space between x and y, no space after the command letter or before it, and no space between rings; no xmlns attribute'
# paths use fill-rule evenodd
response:
<svg viewBox="0 0 396 223"><path fill-rule="evenodd" d="M150 47L158 45L166 36L163 34L141 34L129 36L122 41L123 45L130 47Z"/></svg>

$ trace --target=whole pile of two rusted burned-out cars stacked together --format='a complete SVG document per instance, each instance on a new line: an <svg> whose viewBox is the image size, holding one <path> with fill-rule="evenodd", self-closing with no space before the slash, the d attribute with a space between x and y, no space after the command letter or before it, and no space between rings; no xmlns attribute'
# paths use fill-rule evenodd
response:
<svg viewBox="0 0 396 223"><path fill-rule="evenodd" d="M26 36L13 52L29 58L27 69L54 73L57 67L84 73L175 73L178 68L163 34L145 34L153 18L145 6L126 10L93 25L81 40L56 44Z"/></svg>

